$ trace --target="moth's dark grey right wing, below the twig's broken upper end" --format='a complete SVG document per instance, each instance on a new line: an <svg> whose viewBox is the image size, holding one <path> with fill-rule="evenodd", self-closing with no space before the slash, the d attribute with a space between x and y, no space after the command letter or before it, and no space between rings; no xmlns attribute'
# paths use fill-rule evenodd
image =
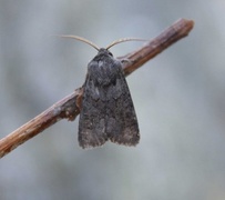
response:
<svg viewBox="0 0 225 200"><path fill-rule="evenodd" d="M116 78L108 89L106 132L112 142L135 146L140 141L140 131L130 90L120 64Z"/></svg>

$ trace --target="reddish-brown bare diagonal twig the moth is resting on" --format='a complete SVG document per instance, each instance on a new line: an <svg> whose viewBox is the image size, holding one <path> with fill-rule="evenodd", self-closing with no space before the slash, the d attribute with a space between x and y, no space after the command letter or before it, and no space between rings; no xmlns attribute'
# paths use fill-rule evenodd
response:
<svg viewBox="0 0 225 200"><path fill-rule="evenodd" d="M167 47L186 37L192 30L193 26L194 21L181 19L164 30L158 37L143 46L141 49L124 57L120 57L119 59L131 60L131 62L124 62L123 64L124 74L129 76L134 70L143 66L146 61L165 50ZM74 120L80 113L79 108L81 106L82 93L82 88L76 89L70 96L57 102L51 108L37 116L34 119L30 120L19 129L8 134L6 138L1 139L0 158L4 157L18 146L39 134L59 120L64 118L70 121Z"/></svg>

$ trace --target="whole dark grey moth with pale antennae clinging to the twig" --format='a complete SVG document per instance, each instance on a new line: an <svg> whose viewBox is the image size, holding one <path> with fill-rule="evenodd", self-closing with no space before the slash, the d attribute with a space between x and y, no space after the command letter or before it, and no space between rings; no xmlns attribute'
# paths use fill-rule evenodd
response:
<svg viewBox="0 0 225 200"><path fill-rule="evenodd" d="M88 64L83 84L78 137L80 147L94 148L108 140L124 146L137 144L140 130L122 62L113 58L109 49L124 41L142 39L120 39L106 48L99 48L78 36L61 37L83 41L98 50Z"/></svg>

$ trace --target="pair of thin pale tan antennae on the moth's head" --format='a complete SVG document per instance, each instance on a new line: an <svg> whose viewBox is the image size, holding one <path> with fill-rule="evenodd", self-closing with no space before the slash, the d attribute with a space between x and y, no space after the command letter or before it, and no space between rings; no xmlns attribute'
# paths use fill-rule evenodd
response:
<svg viewBox="0 0 225 200"><path fill-rule="evenodd" d="M95 43L91 42L90 40L86 40L85 38L79 37L79 36L70 36L70 34L67 36L67 34L63 34L63 36L60 36L60 37L61 38L70 38L70 39L80 40L80 41L82 41L84 43L90 44L91 47L93 47L98 51L101 51L102 49L109 50L111 47L113 47L113 46L115 46L117 43L125 42L125 41L147 41L147 40L140 39L140 38L122 38L122 39L113 41L106 48L99 48Z"/></svg>

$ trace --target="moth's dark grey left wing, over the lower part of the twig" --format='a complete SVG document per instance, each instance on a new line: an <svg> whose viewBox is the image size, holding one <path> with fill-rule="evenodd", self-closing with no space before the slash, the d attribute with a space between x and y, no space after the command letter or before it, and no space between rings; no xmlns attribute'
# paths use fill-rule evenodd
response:
<svg viewBox="0 0 225 200"><path fill-rule="evenodd" d="M93 77L88 73L79 119L79 144L83 149L102 146L108 140L104 116L105 103L100 98L102 91L99 87L95 84Z"/></svg>

